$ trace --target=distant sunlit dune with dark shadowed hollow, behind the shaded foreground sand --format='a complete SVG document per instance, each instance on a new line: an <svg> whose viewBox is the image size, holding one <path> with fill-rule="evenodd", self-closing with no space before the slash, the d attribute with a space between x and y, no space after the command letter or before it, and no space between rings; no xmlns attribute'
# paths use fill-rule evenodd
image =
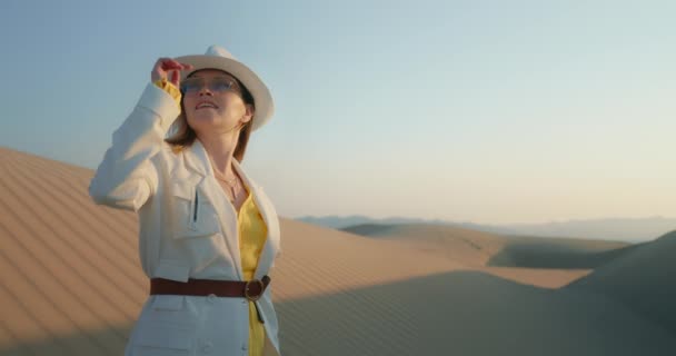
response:
<svg viewBox="0 0 676 356"><path fill-rule="evenodd" d="M341 229L406 246L429 257L513 281L559 288L593 267L633 248L627 243L569 238L506 237L466 228L429 225L358 225Z"/></svg>

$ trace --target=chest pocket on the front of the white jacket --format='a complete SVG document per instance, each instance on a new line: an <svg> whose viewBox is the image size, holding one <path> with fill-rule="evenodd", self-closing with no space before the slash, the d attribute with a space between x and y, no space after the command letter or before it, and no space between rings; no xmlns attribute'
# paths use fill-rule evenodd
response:
<svg viewBox="0 0 676 356"><path fill-rule="evenodd" d="M172 184L175 238L201 237L220 233L216 209L195 185Z"/></svg>

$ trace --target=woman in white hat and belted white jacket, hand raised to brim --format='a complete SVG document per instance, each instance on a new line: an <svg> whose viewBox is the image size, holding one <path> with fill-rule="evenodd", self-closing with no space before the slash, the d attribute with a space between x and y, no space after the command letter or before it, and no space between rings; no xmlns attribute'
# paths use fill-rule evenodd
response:
<svg viewBox="0 0 676 356"><path fill-rule="evenodd" d="M279 355L278 217L239 165L272 111L262 80L220 47L155 65L89 187L139 214L150 296L126 355Z"/></svg>

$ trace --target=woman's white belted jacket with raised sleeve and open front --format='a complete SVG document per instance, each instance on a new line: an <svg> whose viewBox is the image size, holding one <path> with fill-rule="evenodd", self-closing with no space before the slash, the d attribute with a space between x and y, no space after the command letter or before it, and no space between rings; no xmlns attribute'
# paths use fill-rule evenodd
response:
<svg viewBox="0 0 676 356"><path fill-rule="evenodd" d="M97 204L138 211L139 254L149 278L242 280L237 212L226 198L199 140L179 154L163 141L179 108L149 83L138 105L112 135L89 186ZM267 225L255 278L262 278L280 251L279 220L262 188L233 160ZM266 355L279 355L278 324L270 290L258 301L266 329ZM248 300L195 296L150 296L133 327L126 355L156 355L158 348L197 355L248 355ZM179 352L183 350L183 352ZM167 350L168 352L168 350ZM160 352L161 353L161 352Z"/></svg>

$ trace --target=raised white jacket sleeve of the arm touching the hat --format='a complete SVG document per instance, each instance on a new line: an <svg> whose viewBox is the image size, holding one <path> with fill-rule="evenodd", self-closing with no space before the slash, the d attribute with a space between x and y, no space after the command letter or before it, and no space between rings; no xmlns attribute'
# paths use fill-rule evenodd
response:
<svg viewBox="0 0 676 356"><path fill-rule="evenodd" d="M89 184L97 204L137 211L155 194L158 172L151 158L180 108L167 91L149 83L136 108L112 134L112 146Z"/></svg>

